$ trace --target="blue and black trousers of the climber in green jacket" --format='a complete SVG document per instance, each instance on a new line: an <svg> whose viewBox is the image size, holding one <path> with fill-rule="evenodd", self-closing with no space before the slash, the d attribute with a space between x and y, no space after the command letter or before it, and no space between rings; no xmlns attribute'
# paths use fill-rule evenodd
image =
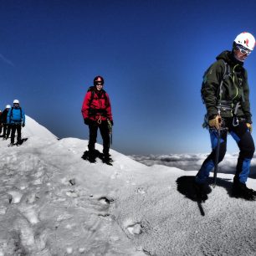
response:
<svg viewBox="0 0 256 256"><path fill-rule="evenodd" d="M245 184L248 179L250 164L253 158L253 153L255 151L253 137L248 131L248 127L245 121L239 121L237 126L233 126L232 119L225 120L225 126L228 128L228 130L221 131L218 162L223 161L223 158L226 154L227 137L229 132L229 134L237 142L238 148L240 150L234 182L242 182ZM212 143L212 152L209 156L207 156L207 159L203 161L202 166L197 173L196 182L198 183L207 182L207 177L209 177L210 172L214 168L218 135L217 131L214 129L210 129L209 132Z"/></svg>

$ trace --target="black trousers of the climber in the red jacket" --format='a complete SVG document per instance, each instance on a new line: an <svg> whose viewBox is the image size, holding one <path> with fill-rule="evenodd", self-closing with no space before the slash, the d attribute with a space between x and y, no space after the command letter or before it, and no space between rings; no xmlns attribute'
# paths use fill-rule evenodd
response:
<svg viewBox="0 0 256 256"><path fill-rule="evenodd" d="M98 128L100 129L100 135L103 141L103 154L107 155L110 151L110 131L108 127L107 120L102 120L101 124L97 123L96 121L91 121L89 124L89 144L88 149L89 151L95 150L95 143L97 141L97 132Z"/></svg>

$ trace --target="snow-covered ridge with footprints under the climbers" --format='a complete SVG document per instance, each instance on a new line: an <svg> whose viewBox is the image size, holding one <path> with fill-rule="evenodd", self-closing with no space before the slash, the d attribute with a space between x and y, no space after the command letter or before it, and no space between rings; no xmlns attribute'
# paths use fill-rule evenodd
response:
<svg viewBox="0 0 256 256"><path fill-rule="evenodd" d="M113 166L91 164L88 141L27 119L23 146L0 141L0 256L255 255L256 202L230 196L233 175L199 205L184 196L196 171L116 151Z"/></svg>

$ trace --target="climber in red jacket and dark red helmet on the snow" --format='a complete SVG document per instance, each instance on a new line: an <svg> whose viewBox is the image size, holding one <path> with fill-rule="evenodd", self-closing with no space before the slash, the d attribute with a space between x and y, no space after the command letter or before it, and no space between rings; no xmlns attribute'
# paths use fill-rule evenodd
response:
<svg viewBox="0 0 256 256"><path fill-rule="evenodd" d="M82 115L84 124L89 126L89 161L95 162L95 143L97 131L100 129L100 135L103 140L104 161L110 161L110 129L108 121L113 125L110 97L103 90L104 79L98 75L94 79L94 86L90 86L82 105Z"/></svg>

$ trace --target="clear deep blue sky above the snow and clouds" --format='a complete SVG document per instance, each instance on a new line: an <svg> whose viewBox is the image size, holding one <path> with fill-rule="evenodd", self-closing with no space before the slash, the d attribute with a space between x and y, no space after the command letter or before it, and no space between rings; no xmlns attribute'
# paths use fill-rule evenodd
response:
<svg viewBox="0 0 256 256"><path fill-rule="evenodd" d="M112 103L113 149L210 151L202 74L238 33L256 36L255 10L253 0L0 0L0 108L18 99L56 136L87 139L80 109L100 74ZM256 51L245 68L255 122Z"/></svg>

